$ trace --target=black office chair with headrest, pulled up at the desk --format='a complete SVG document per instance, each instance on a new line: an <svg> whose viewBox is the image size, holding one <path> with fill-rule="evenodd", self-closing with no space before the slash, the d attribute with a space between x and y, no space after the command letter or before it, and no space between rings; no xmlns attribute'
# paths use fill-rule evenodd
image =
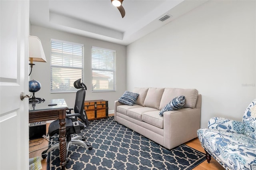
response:
<svg viewBox="0 0 256 170"><path fill-rule="evenodd" d="M74 87L76 89L80 89L76 92L76 102L74 109L68 109L66 112L66 141L67 141L67 154L71 144L82 145L88 147L89 150L92 149L92 145L90 143L84 142L85 138L82 136L74 136L71 138L71 134L78 134L84 128L89 126L89 121L86 115L86 111L84 110L84 99L86 93L86 85L81 83L81 79L78 79L74 82ZM71 111L74 110L74 113ZM79 121L79 118L81 121ZM48 128L49 136L53 136L54 134L59 133L59 120L53 121L50 123ZM81 140L82 139L82 140ZM59 142L54 144L53 146L49 147L47 150L42 152L42 158L45 159L47 157L48 152L60 148ZM68 161L68 159L67 159Z"/></svg>

